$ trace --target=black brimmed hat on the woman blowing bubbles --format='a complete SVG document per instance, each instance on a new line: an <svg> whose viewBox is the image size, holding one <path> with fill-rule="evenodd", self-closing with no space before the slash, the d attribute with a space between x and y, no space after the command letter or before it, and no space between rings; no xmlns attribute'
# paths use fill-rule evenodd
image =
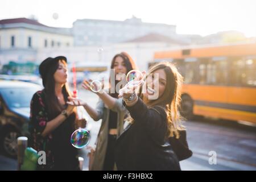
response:
<svg viewBox="0 0 256 182"><path fill-rule="evenodd" d="M39 73L43 79L43 85L45 86L46 83L46 76L48 74L49 68L52 65L59 63L59 60L64 60L67 63L67 58L65 56L57 56L57 57L47 57L47 59L43 60L42 63L39 65Z"/></svg>

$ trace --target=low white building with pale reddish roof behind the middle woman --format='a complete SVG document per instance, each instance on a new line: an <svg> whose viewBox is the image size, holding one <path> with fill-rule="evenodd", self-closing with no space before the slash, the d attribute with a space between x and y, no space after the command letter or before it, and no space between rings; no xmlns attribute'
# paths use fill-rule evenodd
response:
<svg viewBox="0 0 256 182"><path fill-rule="evenodd" d="M39 49L37 60L44 60L48 56L64 55L69 63L84 62L88 64L108 65L115 54L127 52L133 58L141 71L146 71L148 63L153 60L154 52L169 50L184 45L166 36L149 34L130 40L129 42L108 44L106 46L80 46L69 48L43 48ZM103 51L102 51L103 49Z"/></svg>

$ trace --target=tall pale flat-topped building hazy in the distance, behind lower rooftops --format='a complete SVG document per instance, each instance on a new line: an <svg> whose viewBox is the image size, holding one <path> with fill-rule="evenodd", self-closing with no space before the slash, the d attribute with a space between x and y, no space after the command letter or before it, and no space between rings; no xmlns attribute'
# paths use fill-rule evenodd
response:
<svg viewBox="0 0 256 182"><path fill-rule="evenodd" d="M125 42L147 34L177 37L176 26L163 23L144 23L133 18L124 21L78 19L73 23L75 46L105 45Z"/></svg>

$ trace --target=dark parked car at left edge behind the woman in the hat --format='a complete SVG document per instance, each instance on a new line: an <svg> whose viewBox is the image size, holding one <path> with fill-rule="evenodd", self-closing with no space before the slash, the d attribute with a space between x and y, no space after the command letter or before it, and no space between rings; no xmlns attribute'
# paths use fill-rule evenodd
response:
<svg viewBox="0 0 256 182"><path fill-rule="evenodd" d="M42 86L23 81L0 80L0 150L15 157L16 139L29 137L30 101Z"/></svg>

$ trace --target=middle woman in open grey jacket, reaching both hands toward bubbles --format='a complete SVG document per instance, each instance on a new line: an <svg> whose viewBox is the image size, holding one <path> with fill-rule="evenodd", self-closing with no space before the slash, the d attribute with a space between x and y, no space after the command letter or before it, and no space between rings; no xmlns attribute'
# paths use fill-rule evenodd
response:
<svg viewBox="0 0 256 182"><path fill-rule="evenodd" d="M121 52L113 57L110 68L114 71L112 72L114 75L110 74L109 78L110 88L96 93L100 97L96 109L80 99L73 98L74 101L79 101L76 103L68 102L71 105L84 106L94 121L102 119L91 170L110 171L114 169L115 140L123 131L123 121L127 113L122 104L122 99L118 98L117 84L126 78L129 71L136 69L136 66L133 59L126 52ZM85 80L82 86L86 90L92 91L90 83L91 81Z"/></svg>

